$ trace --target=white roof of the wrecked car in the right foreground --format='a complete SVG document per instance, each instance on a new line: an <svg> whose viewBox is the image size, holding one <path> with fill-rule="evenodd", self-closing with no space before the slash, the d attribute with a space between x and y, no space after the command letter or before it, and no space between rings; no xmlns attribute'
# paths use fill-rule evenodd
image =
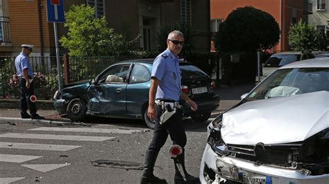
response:
<svg viewBox="0 0 329 184"><path fill-rule="evenodd" d="M308 67L329 67L328 58L312 58L309 60L301 60L297 62L292 62L288 65L280 67L280 69L287 68L308 68Z"/></svg>

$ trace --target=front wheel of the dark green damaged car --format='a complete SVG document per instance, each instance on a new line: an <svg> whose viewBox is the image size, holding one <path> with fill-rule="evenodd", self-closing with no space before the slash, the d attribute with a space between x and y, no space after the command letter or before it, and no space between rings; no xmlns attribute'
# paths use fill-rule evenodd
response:
<svg viewBox="0 0 329 184"><path fill-rule="evenodd" d="M79 122L85 119L87 115L86 102L83 99L72 99L67 105L67 117L74 122Z"/></svg>

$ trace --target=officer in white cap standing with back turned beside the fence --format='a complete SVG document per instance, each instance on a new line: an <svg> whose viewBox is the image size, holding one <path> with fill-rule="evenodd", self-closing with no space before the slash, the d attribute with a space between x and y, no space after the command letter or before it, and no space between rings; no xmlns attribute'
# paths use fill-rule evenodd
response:
<svg viewBox="0 0 329 184"><path fill-rule="evenodd" d="M19 89L21 92L19 107L21 108L21 117L23 119L44 119L44 117L37 114L37 106L30 99L34 95L34 85L33 69L28 56L31 54L33 47L32 44L22 44L22 52L15 59L16 74L19 77ZM31 115L26 112L28 109Z"/></svg>

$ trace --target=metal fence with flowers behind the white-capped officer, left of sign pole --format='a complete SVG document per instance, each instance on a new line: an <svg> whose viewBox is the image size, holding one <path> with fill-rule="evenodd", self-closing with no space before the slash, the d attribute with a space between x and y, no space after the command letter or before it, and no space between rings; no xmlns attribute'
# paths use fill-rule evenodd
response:
<svg viewBox="0 0 329 184"><path fill-rule="evenodd" d="M38 99L52 99L58 89L56 57L32 56L29 60L34 72L35 95ZM0 56L0 98L19 99L19 79L16 76L15 56Z"/></svg>

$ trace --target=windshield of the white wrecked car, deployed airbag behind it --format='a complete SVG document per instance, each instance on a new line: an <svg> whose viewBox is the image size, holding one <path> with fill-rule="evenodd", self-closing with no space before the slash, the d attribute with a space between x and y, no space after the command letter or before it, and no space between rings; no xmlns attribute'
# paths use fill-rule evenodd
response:
<svg viewBox="0 0 329 184"><path fill-rule="evenodd" d="M329 68L278 69L245 98L247 101L329 91Z"/></svg>

